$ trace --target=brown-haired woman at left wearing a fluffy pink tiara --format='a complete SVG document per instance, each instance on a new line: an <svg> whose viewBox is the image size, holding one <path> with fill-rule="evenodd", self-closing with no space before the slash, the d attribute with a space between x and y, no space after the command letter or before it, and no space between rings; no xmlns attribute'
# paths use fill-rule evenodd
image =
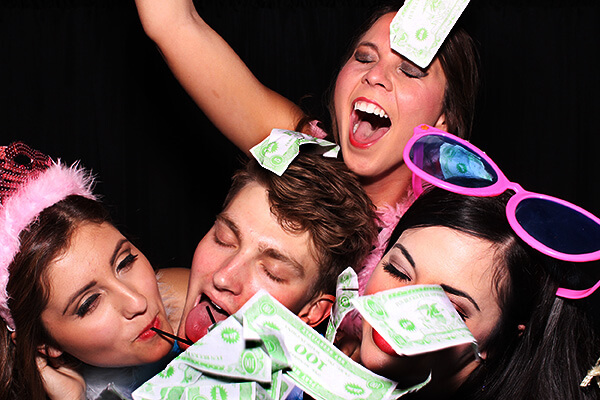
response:
<svg viewBox="0 0 600 400"><path fill-rule="evenodd" d="M159 291L156 271L92 185L77 165L23 143L0 147L2 399L79 399L86 383L92 395L93 377L79 375L92 366L131 367L114 370L133 385L119 390L130 391L173 348L152 328L173 332L178 313L167 313L163 296L180 288Z"/></svg>

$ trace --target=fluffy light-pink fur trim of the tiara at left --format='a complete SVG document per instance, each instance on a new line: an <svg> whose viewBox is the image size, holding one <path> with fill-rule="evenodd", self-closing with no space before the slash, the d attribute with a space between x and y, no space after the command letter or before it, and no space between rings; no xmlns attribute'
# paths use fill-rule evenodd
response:
<svg viewBox="0 0 600 400"><path fill-rule="evenodd" d="M0 316L14 329L8 309L8 266L19 252L21 231L33 222L42 210L70 195L94 198L93 179L77 164L67 167L60 160L37 178L27 182L0 206Z"/></svg>

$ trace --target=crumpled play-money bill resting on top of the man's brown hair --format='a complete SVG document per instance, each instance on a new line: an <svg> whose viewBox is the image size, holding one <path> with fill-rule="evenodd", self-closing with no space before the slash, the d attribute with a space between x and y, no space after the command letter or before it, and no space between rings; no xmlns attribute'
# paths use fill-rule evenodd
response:
<svg viewBox="0 0 600 400"><path fill-rule="evenodd" d="M338 145L327 140L300 132L273 129L269 137L250 149L250 153L263 168L281 176L296 158L303 144L320 146L323 157L335 158L340 150Z"/></svg>

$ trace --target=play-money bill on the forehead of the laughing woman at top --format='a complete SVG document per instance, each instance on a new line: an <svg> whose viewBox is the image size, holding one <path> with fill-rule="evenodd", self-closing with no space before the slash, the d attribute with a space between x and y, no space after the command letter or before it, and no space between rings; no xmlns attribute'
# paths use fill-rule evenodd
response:
<svg viewBox="0 0 600 400"><path fill-rule="evenodd" d="M390 45L427 68L469 0L406 0L390 24Z"/></svg>

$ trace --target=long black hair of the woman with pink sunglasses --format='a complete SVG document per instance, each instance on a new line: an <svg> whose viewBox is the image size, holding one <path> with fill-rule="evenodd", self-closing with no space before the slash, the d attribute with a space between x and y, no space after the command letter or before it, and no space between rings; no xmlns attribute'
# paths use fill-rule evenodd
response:
<svg viewBox="0 0 600 400"><path fill-rule="evenodd" d="M575 267L539 253L514 233L505 214L510 196L431 189L407 210L390 238L392 246L407 229L443 226L496 248L494 287L502 315L480 343L485 361L453 398L598 399L598 387L579 387L600 351L591 315L583 302L555 295Z"/></svg>

